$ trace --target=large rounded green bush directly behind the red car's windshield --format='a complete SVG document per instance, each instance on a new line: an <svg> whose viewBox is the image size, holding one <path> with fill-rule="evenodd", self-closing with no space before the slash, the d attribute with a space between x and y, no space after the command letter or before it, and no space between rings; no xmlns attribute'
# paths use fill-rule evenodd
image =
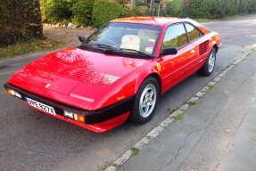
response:
<svg viewBox="0 0 256 171"><path fill-rule="evenodd" d="M118 3L111 0L96 0L92 20L96 28L102 27L106 22L122 17L124 9Z"/></svg>

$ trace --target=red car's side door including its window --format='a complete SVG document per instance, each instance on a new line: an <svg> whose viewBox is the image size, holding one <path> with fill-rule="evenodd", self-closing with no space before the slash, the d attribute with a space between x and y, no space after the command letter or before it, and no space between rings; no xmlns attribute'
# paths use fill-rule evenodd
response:
<svg viewBox="0 0 256 171"><path fill-rule="evenodd" d="M161 49L170 46L175 46L178 53L165 55L159 59L162 91L191 75L194 72L191 70L193 61L198 57L194 45L189 43L184 23L173 24L166 28Z"/></svg>

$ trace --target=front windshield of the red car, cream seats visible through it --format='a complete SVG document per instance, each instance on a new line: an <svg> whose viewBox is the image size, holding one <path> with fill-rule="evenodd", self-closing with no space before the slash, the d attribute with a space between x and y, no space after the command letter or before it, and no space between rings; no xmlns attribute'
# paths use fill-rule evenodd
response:
<svg viewBox="0 0 256 171"><path fill-rule="evenodd" d="M82 45L111 48L128 53L153 54L161 27L110 22L95 31Z"/></svg>

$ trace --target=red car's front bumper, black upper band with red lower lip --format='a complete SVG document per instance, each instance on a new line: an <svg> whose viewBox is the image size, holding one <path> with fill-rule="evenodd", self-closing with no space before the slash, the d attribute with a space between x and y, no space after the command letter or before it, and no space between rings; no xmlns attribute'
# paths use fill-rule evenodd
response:
<svg viewBox="0 0 256 171"><path fill-rule="evenodd" d="M101 110L89 111L72 107L62 102L55 102L54 100L47 99L37 94L32 94L26 90L23 90L9 83L5 83L4 87L7 91L12 90L13 92L15 92L12 95L20 98L21 100L23 100L25 104L29 105L30 107L42 111L45 114L48 114L54 118L62 119L65 122L69 122L70 124L86 128L96 133L103 133L108 130L111 130L113 127L123 124L127 120L130 110L132 109L135 97L131 96L121 102L117 102ZM32 99L36 102L39 102L40 104L45 104L45 106L52 107L54 109L54 114L47 112L46 110L40 110L35 106L32 106L28 102L28 99ZM69 118L65 116L64 111L84 116L84 123L79 122L74 118Z"/></svg>

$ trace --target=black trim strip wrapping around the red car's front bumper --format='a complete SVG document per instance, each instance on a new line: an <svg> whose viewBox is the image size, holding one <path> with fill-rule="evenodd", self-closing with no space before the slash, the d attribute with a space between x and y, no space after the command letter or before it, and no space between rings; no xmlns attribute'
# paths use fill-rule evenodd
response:
<svg viewBox="0 0 256 171"><path fill-rule="evenodd" d="M64 116L63 110L67 110L70 112L84 115L87 117L86 124L101 123L103 121L118 117L121 114L130 111L132 109L134 99L135 99L135 96L131 96L121 102L117 102L117 103L112 104L111 106L108 106L101 110L88 111L88 110L83 110L83 109L79 109L76 107L72 107L72 106L64 104L62 102L55 102L53 100L47 99L47 98L39 96L37 94L29 93L28 91L23 90L15 85L11 85L9 83L5 83L4 87L6 89L10 88L10 89L18 92L19 94L21 94L21 99L23 101L26 101L25 97L29 97L31 99L36 100L37 102L42 102L49 106L52 106L54 108L56 114L58 114L58 115Z"/></svg>

